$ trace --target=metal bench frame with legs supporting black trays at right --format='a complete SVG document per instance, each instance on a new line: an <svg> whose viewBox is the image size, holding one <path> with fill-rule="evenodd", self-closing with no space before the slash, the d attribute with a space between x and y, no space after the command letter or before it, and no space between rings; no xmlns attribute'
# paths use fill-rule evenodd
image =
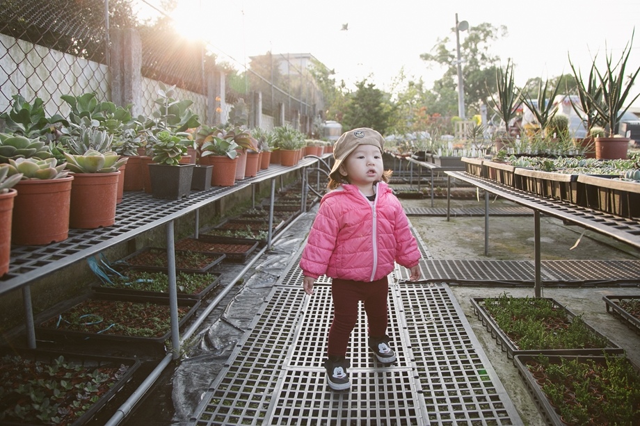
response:
<svg viewBox="0 0 640 426"><path fill-rule="evenodd" d="M609 215L607 213L601 213L593 211L589 208L583 208L575 204L568 202L562 202L559 200L540 197L538 195L531 194L531 192L525 192L504 186L495 181L489 179L483 179L476 177L472 174L465 172L446 172L449 176L447 181L447 221L449 220L449 185L450 178L459 179L467 183L471 183L477 188L485 191L484 206L485 206L485 229L484 229L484 252L488 254L488 235L489 235L489 193L507 199L521 206L531 208L534 211L534 250L535 250L535 295L541 297L542 295L542 281L541 281L541 253L540 253L540 214L552 216L567 222L577 224L586 229L591 229L600 234L615 238L632 245L632 247L640 248L640 221L627 218L620 218L618 216Z"/></svg>

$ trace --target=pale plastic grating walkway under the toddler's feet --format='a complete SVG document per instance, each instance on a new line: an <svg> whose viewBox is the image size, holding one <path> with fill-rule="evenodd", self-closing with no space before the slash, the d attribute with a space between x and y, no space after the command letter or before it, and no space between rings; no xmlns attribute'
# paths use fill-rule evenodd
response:
<svg viewBox="0 0 640 426"><path fill-rule="evenodd" d="M351 390L331 391L321 365L330 280L308 297L298 258L280 277L212 382L193 425L521 425L509 395L446 284L390 285L398 360L367 349L364 313L351 334ZM403 268L402 268L403 269Z"/></svg>

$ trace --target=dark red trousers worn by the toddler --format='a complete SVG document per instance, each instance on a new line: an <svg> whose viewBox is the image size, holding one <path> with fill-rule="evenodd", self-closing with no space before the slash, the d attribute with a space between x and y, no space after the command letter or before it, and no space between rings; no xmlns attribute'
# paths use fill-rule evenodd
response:
<svg viewBox="0 0 640 426"><path fill-rule="evenodd" d="M349 345L351 331L358 322L358 302L362 300L367 313L369 336L382 337L387 332L387 277L370 283L333 279L333 322L329 328L327 354L329 357L344 357Z"/></svg>

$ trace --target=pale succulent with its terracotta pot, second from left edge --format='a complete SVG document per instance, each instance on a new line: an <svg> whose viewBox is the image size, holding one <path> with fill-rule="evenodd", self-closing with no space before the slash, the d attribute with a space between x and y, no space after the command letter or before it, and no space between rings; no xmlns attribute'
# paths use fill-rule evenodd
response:
<svg viewBox="0 0 640 426"><path fill-rule="evenodd" d="M18 245L45 245L69 236L73 177L56 158L9 159L9 174L20 174L13 205L12 241Z"/></svg>

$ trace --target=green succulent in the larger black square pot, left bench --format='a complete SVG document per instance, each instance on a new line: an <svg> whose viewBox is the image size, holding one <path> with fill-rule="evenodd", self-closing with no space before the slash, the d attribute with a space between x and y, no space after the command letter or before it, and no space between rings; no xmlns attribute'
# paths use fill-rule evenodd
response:
<svg viewBox="0 0 640 426"><path fill-rule="evenodd" d="M189 133L159 131L151 145L152 163L149 164L152 195L161 199L181 199L191 193L193 163L181 163L186 155Z"/></svg>

